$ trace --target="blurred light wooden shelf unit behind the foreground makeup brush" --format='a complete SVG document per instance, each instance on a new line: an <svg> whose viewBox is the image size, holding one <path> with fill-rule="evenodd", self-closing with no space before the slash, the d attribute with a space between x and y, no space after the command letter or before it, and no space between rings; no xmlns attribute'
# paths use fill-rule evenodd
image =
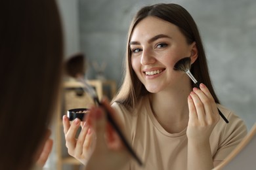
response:
<svg viewBox="0 0 256 170"><path fill-rule="evenodd" d="M105 95L104 88L106 86L108 86L110 92L109 98L116 93L116 83L112 80L87 80L87 82L95 88L99 99L102 99L103 95ZM62 102L58 107L56 118L56 169L58 170L62 170L64 165L72 165L73 169L79 169L81 165L79 161L68 155L68 150L65 146L62 116L69 109L87 108L93 105L93 99L82 88L83 84L74 80L63 84Z"/></svg>

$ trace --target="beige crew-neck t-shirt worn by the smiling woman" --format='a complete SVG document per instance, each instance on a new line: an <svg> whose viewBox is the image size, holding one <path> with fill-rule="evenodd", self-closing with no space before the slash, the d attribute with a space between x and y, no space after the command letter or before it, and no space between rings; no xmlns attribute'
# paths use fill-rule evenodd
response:
<svg viewBox="0 0 256 170"><path fill-rule="evenodd" d="M165 131L154 117L147 96L141 99L137 109L132 113L118 103L112 106L121 117L127 140L144 162L144 167L140 167L135 160L131 160L125 170L187 169L186 129L173 134ZM214 161L224 160L247 134L246 126L238 116L221 105L218 107L229 123L226 124L221 118L211 134L210 143Z"/></svg>

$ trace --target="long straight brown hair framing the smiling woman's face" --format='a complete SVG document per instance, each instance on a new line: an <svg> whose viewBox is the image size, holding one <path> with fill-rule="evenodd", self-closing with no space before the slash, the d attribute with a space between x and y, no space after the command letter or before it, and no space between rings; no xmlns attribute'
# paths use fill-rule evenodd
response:
<svg viewBox="0 0 256 170"><path fill-rule="evenodd" d="M209 91L213 95L215 102L219 103L219 99L217 98L217 95L215 94L211 84L205 52L196 23L188 11L180 5L164 3L143 7L139 10L139 12L137 12L135 18L133 18L127 38L125 76L123 79L123 84L121 85L119 92L117 93L116 97L114 97L112 102L117 101L126 107L133 109L140 97L149 93L142 82L140 82L139 78L135 74L135 71L133 71L131 66L131 49L129 47L133 29L141 20L147 16L155 16L174 25L177 25L177 27L179 27L181 30L181 33L186 37L188 44L196 42L196 46L198 48L198 59L196 59L196 61L193 63L191 72L198 80L198 82L203 82L207 88L209 88Z"/></svg>

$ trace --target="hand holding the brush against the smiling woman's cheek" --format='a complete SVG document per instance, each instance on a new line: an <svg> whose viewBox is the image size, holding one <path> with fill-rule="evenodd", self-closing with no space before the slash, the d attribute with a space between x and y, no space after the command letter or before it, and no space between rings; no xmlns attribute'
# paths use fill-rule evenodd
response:
<svg viewBox="0 0 256 170"><path fill-rule="evenodd" d="M188 109L188 141L209 142L211 132L220 118L215 100L204 84L200 84L200 90L193 88L188 96Z"/></svg>

